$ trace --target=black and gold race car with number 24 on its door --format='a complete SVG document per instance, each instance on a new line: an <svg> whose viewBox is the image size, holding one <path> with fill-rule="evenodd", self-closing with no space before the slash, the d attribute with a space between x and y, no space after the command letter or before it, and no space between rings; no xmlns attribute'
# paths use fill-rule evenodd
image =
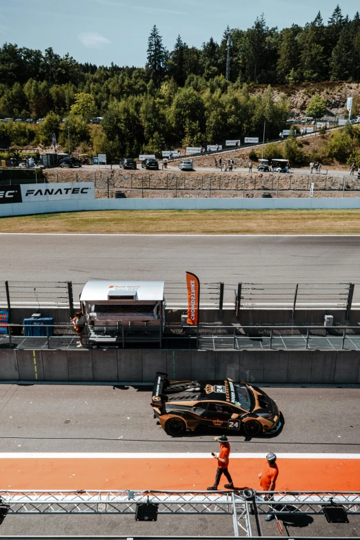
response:
<svg viewBox="0 0 360 540"><path fill-rule="evenodd" d="M157 372L151 406L161 427L173 437L198 426L248 436L274 433L281 426L277 404L260 388L226 381L168 381Z"/></svg>

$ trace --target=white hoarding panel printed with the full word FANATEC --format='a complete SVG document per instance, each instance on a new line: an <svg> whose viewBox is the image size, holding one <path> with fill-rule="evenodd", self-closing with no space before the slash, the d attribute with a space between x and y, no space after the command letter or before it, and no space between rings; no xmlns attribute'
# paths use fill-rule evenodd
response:
<svg viewBox="0 0 360 540"><path fill-rule="evenodd" d="M21 184L23 203L63 201L64 199L94 199L93 182Z"/></svg>

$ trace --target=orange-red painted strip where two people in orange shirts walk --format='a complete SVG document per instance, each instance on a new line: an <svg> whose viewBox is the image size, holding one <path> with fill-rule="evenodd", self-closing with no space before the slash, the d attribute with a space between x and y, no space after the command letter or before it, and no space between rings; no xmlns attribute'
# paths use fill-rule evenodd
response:
<svg viewBox="0 0 360 540"><path fill-rule="evenodd" d="M235 486L259 490L264 459L230 458ZM277 490L360 490L360 459L278 459ZM212 459L0 459L0 490L204 490L212 486ZM223 479L220 488L226 483Z"/></svg>

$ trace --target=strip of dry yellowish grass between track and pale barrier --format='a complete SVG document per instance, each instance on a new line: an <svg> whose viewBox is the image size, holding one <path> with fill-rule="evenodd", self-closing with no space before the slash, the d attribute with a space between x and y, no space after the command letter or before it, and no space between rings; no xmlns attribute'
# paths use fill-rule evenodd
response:
<svg viewBox="0 0 360 540"><path fill-rule="evenodd" d="M0 219L0 232L360 234L360 210L113 210Z"/></svg>

